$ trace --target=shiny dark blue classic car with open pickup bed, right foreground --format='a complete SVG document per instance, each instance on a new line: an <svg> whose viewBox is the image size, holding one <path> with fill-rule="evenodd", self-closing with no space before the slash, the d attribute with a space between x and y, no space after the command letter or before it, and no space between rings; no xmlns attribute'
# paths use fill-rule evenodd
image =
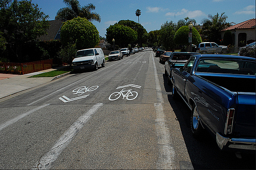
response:
<svg viewBox="0 0 256 170"><path fill-rule="evenodd" d="M172 70L172 96L181 96L191 109L191 131L203 129L220 149L255 153L255 58L194 55Z"/></svg>

